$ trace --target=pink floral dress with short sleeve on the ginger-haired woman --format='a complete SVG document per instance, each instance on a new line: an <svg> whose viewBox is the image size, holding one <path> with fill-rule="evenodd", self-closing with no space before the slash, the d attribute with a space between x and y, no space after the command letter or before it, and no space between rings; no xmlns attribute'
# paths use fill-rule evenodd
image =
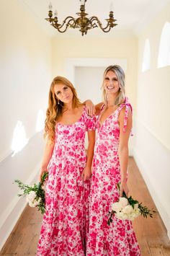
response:
<svg viewBox="0 0 170 256"><path fill-rule="evenodd" d="M85 108L76 123L56 125L38 256L85 255L89 181L83 182L81 174L86 164L85 133L95 128L95 118L86 115Z"/></svg>

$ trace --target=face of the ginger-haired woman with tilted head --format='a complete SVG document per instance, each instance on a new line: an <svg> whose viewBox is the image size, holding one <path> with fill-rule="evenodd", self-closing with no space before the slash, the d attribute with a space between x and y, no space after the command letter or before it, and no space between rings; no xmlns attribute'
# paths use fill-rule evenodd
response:
<svg viewBox="0 0 170 256"><path fill-rule="evenodd" d="M54 92L57 99L61 100L63 103L68 104L73 100L73 92L71 88L65 84L55 84Z"/></svg>

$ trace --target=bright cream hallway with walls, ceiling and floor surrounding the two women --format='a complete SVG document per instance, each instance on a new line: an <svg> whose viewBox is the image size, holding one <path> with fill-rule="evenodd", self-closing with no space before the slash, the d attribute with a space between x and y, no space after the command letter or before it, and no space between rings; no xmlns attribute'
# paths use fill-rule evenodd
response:
<svg viewBox="0 0 170 256"><path fill-rule="evenodd" d="M51 1L61 21L71 13L76 17L79 11L79 0ZM104 24L110 1L87 0L89 17L97 15ZM135 136L130 138L130 156L138 164L170 238L170 0L130 0L130 4L114 0L117 26L109 33L91 30L84 37L79 30L55 31L45 21L48 4L49 0L0 1L0 251L12 232L2 252L35 254L40 214L27 208L27 218L12 231L22 221L19 217L26 205L12 183L37 180L53 77L66 76L82 102L98 103L103 71L112 64L124 69L126 95L133 105ZM146 185L136 180L133 184L132 194L148 205ZM157 214L134 224L144 255L169 254L169 240Z"/></svg>

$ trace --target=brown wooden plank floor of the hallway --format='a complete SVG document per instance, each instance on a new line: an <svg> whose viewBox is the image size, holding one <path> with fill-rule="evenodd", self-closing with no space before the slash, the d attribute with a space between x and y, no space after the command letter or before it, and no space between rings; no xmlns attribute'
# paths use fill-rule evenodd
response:
<svg viewBox="0 0 170 256"><path fill-rule="evenodd" d="M148 193L143 178L132 157L129 159L129 187L130 195L142 202L148 208L156 209L151 195ZM40 233L42 216L36 208L27 206L22 213L12 234L4 244L0 255L35 255L37 241ZM139 216L133 221L142 256L170 256L170 242L166 228L161 221L159 213L154 218L143 219ZM76 256L76 255L75 255Z"/></svg>

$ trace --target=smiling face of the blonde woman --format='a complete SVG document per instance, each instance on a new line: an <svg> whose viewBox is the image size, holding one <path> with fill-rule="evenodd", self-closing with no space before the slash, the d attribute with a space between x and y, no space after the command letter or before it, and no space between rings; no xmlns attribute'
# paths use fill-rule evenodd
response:
<svg viewBox="0 0 170 256"><path fill-rule="evenodd" d="M119 91L120 85L115 72L109 70L104 77L104 89L107 94L115 94Z"/></svg>

